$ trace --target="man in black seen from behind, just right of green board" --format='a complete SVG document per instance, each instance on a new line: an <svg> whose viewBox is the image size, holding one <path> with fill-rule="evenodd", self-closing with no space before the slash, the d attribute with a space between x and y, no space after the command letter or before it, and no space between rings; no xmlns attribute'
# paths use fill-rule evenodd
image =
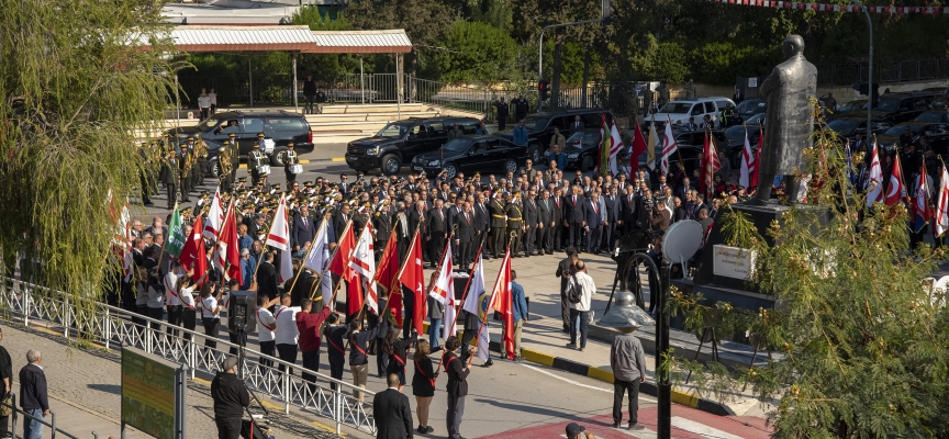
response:
<svg viewBox="0 0 949 439"><path fill-rule="evenodd" d="M217 439L238 439L244 408L250 405L250 395L244 382L237 378L237 358L227 357L221 371L211 382L211 398L214 399L214 424Z"/></svg>

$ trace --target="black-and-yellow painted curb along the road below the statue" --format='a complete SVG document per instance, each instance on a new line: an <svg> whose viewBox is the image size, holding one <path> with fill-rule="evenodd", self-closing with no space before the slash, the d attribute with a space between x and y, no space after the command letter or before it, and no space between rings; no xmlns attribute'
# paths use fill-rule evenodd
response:
<svg viewBox="0 0 949 439"><path fill-rule="evenodd" d="M425 334L428 334L428 323L425 322ZM459 336L460 337L460 336ZM474 345L477 340L471 340L471 345ZM489 349L492 352L501 352L501 344L498 341L491 341L489 344ZM602 381L604 383L613 384L613 371L606 369L600 369L594 365L583 364L567 358L555 357L549 353L544 353L540 351L536 351L533 349L522 349L521 356L524 357L526 361L532 363L537 363L546 367L550 367L557 370L561 370L565 372L576 373L578 375L583 375L587 378L592 378L594 380ZM639 384L639 392L647 394L649 396L656 396L657 387L654 382L645 382ZM728 406L716 403L711 399L705 399L697 397L695 395L691 395L684 392L677 391L674 389L671 390L672 402L679 405L684 405L688 407L692 407L696 410L702 410L705 413L710 413L718 416L735 416L735 412L733 412Z"/></svg>

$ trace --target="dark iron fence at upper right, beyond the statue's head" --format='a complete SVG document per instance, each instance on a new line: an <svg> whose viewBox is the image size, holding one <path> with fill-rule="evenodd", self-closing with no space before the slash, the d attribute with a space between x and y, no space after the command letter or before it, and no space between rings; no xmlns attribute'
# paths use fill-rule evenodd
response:
<svg viewBox="0 0 949 439"><path fill-rule="evenodd" d="M822 64L817 66L820 87L849 87L867 82L867 63ZM907 59L873 64L874 81L897 83L949 79L949 59Z"/></svg>

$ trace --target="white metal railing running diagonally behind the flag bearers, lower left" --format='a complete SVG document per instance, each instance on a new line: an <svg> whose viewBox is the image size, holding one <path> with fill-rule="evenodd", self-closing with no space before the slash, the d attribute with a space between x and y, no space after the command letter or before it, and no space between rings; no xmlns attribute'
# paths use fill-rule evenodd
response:
<svg viewBox="0 0 949 439"><path fill-rule="evenodd" d="M219 372L221 361L231 354L232 349L236 351L239 348L221 339L214 339L216 348L209 348L203 346L203 342L199 345L199 340L208 338L204 334L169 326L166 322L97 301L83 300L79 306L70 306L72 301L75 300L59 291L0 278L0 314L7 318L20 318L24 326L27 326L31 319L45 322L47 327L59 325L64 337L100 342L107 349L116 344L135 346L148 353L188 365L191 379L194 378L196 370L211 374ZM133 323L133 318L144 324ZM169 329L174 333L169 334ZM191 339L186 339L186 336ZM308 370L308 373L315 375L317 383L303 381L302 378L289 373L291 368L297 371L304 370L299 364L250 348L245 348L245 352L241 369L247 387L280 402L284 414L290 413L291 406L299 407L333 419L337 434L344 424L369 434L376 432L376 420L372 414L367 412L367 408L371 407L375 392L316 371ZM271 365L252 361L252 358L266 360ZM284 371L280 370L281 367ZM323 383L336 384L336 389L326 389L321 385ZM364 394L365 401L369 401L368 404L350 395L357 391Z"/></svg>

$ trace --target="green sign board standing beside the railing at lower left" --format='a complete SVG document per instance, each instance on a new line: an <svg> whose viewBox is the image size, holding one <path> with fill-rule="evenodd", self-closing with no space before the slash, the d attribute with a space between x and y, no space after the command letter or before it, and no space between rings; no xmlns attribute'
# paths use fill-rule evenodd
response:
<svg viewBox="0 0 949 439"><path fill-rule="evenodd" d="M122 423L159 439L175 439L177 364L122 348Z"/></svg>

